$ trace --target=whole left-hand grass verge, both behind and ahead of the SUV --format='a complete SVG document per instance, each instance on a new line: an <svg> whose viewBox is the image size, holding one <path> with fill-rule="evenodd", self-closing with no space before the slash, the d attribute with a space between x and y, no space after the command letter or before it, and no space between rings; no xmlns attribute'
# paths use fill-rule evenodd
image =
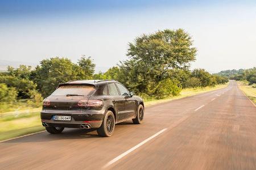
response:
<svg viewBox="0 0 256 170"><path fill-rule="evenodd" d="M193 96L208 91L217 90L228 86L227 84L217 85L215 87L205 88L187 88L180 92L179 96L168 97L167 99L147 99L145 105L154 105L164 103L174 99L181 99L187 96ZM31 134L44 130L40 120L41 108L24 108L21 111L12 111L1 113L0 117L0 141L19 137L21 135Z"/></svg>

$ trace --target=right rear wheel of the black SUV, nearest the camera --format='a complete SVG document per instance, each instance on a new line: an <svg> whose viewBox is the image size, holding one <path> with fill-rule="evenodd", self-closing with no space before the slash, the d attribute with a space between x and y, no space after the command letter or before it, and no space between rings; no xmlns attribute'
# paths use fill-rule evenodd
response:
<svg viewBox="0 0 256 170"><path fill-rule="evenodd" d="M101 137L111 137L115 130L115 116L112 111L106 112L101 127L97 129Z"/></svg>

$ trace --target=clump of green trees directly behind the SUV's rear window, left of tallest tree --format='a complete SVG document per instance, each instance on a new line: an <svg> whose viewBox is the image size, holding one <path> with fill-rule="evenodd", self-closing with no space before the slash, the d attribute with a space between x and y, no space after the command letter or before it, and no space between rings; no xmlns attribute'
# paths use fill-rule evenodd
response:
<svg viewBox="0 0 256 170"><path fill-rule="evenodd" d="M92 79L94 63L82 57L79 64L68 58L54 57L43 59L34 71L34 81L44 97L49 96L60 83L71 80ZM90 68L90 69L88 69Z"/></svg>

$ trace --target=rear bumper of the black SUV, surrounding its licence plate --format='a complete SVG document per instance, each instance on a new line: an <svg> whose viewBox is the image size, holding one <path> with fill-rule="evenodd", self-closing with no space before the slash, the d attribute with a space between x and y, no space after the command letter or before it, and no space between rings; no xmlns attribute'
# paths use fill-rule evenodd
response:
<svg viewBox="0 0 256 170"><path fill-rule="evenodd" d="M101 110L87 110L85 112L41 112L42 123L48 126L63 128L79 128L80 125L88 125L90 128L100 128L104 118L105 108ZM53 120L53 116L71 116L71 121Z"/></svg>

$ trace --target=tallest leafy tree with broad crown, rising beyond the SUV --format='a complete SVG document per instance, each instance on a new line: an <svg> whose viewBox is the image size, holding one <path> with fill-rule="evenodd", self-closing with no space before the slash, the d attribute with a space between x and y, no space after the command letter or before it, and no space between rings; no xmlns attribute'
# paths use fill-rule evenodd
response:
<svg viewBox="0 0 256 170"><path fill-rule="evenodd" d="M188 69L196 49L183 29L142 35L129 43L129 60L119 65L119 81L131 90L151 95L151 86L170 78L171 69Z"/></svg>

